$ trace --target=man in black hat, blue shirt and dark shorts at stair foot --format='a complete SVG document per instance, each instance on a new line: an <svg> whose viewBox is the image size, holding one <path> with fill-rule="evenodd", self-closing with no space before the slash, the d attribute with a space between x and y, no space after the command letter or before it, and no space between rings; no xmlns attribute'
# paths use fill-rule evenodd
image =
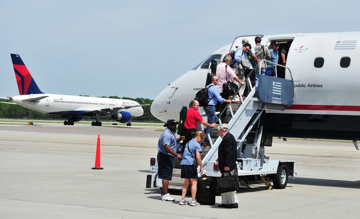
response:
<svg viewBox="0 0 360 219"><path fill-rule="evenodd" d="M172 167L174 164L174 156L181 160L181 155L176 153L176 143L180 140L184 140L184 136L180 138L175 137L176 122L174 119L169 119L165 123L164 127L167 127L161 134L158 142L158 178L162 179L162 194L160 198L162 201L175 201L175 198L170 196L167 192L169 186L169 180L172 178Z"/></svg>

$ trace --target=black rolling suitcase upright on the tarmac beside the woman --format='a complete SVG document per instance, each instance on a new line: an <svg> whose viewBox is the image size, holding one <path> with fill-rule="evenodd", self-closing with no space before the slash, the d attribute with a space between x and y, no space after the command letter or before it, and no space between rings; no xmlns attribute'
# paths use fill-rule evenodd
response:
<svg viewBox="0 0 360 219"><path fill-rule="evenodd" d="M216 195L216 180L212 177L202 175L198 179L196 200L201 205L214 205Z"/></svg>

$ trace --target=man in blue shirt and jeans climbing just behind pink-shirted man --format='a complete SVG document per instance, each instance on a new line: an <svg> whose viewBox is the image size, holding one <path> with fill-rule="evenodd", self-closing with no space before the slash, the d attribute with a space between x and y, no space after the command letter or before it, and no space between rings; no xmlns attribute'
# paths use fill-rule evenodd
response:
<svg viewBox="0 0 360 219"><path fill-rule="evenodd" d="M217 79L216 75L210 75L209 80L211 81L211 83L206 86L207 88L209 88L209 98L207 99L209 103L207 106L204 106L204 111L207 115L207 123L213 124L214 121L217 119L217 116L215 114L215 106L217 104L217 101L219 101L222 104L224 102L231 103L231 100L226 100L221 97L219 90L217 90L216 88L216 85L219 83L219 79ZM209 129L212 128L207 126L205 129L205 133L207 133ZM211 135L211 130L209 134ZM205 136L203 146L210 146L210 140L208 139L207 136Z"/></svg>

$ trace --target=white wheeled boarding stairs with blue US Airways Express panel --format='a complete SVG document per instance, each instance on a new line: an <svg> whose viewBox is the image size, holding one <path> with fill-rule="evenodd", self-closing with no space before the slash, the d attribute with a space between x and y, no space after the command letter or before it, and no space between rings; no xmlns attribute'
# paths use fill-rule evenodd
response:
<svg viewBox="0 0 360 219"><path fill-rule="evenodd" d="M265 62L278 65L270 61ZM219 119L220 115L218 115L218 119L215 121L219 120L219 124L227 123L229 133L233 134L235 139L237 139L237 174L245 182L261 179L266 183L264 178L273 179L275 188L285 188L288 176L296 176L295 161L269 160L269 157L265 156L264 146L269 142L271 145L272 137L262 136L262 121L266 111L284 111L294 101L293 77L290 69L288 67L285 68L287 68L291 80L278 78L276 75L275 77L260 75L257 86L251 86L249 76L255 73L253 69L246 78L246 86L249 86L251 90L248 96L246 98L240 97L242 104L228 104L228 107L220 112L220 115L226 113L224 121ZM241 86L238 92L240 89ZM203 126L203 130L205 128ZM202 146L202 166L204 174L207 176L219 177L220 171L215 161L222 139L217 128L212 129L211 135L209 132L210 130L206 135L211 139L211 146ZM184 179L180 178L181 161L178 160L175 163L172 180L169 181L169 188L181 189L184 183ZM152 167L150 166L151 170ZM198 173L199 170L200 167L198 167ZM151 185L152 182L153 185ZM156 174L148 175L148 186L162 187L161 180L157 179ZM267 186L271 188L269 184Z"/></svg>

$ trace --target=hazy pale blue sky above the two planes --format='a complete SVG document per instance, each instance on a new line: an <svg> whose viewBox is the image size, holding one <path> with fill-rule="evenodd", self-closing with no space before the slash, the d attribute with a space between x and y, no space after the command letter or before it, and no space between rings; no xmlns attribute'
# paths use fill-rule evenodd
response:
<svg viewBox="0 0 360 219"><path fill-rule="evenodd" d="M10 53L44 93L154 99L240 35L359 31L359 1L245 2L0 0L0 97Z"/></svg>

